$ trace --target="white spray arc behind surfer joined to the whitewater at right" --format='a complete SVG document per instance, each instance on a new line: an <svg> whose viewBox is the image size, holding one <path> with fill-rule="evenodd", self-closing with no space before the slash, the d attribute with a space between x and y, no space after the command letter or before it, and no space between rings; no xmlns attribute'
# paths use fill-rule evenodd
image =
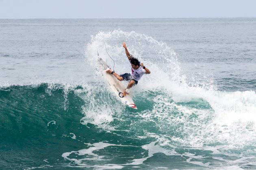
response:
<svg viewBox="0 0 256 170"><path fill-rule="evenodd" d="M92 65L95 63L98 51L109 65L113 63L106 53L105 42L108 53L116 62L116 72L127 72L130 66L121 46L123 41L129 52L152 72L144 76L132 92L160 93L153 99L153 110L140 113L141 117L148 121L157 117L159 128L166 127L167 132L168 126L175 128L178 133L171 138L191 146L218 142L228 147L253 144L256 139L252 133L256 130L255 91L218 91L213 79L204 82L193 78L189 82L186 77L190 75L182 74L174 50L166 43L136 32L114 30L92 36L86 47L89 61Z"/></svg>

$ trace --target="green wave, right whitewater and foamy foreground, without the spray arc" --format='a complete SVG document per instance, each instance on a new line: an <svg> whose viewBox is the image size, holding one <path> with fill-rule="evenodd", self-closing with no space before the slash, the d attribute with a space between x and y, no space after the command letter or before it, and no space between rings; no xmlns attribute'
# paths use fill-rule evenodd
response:
<svg viewBox="0 0 256 170"><path fill-rule="evenodd" d="M144 91L134 98L137 112L120 104L105 83L5 87L1 150L20 157L11 167L23 168L249 167L255 92L211 93L211 100L176 101L163 89Z"/></svg>

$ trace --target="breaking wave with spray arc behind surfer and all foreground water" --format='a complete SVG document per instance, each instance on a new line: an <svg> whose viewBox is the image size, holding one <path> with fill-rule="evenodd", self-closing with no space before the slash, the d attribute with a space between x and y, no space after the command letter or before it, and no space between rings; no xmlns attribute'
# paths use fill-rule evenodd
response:
<svg viewBox="0 0 256 170"><path fill-rule="evenodd" d="M138 110L97 70L98 54L113 68L109 54L115 72L129 72L123 41L152 72L130 90ZM256 168L255 91L188 74L166 43L135 31L93 34L83 57L71 80L76 72L52 61L59 76L45 68L45 77L1 82L0 168Z"/></svg>

